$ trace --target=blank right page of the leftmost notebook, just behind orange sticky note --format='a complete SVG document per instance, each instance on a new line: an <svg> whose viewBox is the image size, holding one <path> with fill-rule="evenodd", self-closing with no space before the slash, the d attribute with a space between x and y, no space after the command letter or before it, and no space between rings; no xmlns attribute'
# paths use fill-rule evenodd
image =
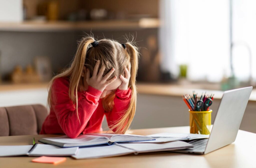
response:
<svg viewBox="0 0 256 168"><path fill-rule="evenodd" d="M37 146L28 154L29 156L71 156L75 155L78 147L60 148L54 145L37 144Z"/></svg>

